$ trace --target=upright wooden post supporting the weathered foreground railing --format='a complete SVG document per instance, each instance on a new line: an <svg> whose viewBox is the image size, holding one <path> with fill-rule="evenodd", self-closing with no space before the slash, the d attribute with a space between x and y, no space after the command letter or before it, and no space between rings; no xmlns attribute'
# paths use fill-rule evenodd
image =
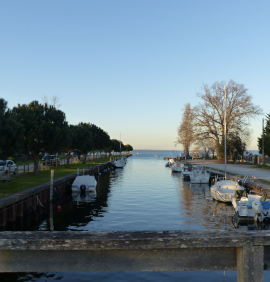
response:
<svg viewBox="0 0 270 282"><path fill-rule="evenodd" d="M263 282L264 247L237 248L237 282Z"/></svg>

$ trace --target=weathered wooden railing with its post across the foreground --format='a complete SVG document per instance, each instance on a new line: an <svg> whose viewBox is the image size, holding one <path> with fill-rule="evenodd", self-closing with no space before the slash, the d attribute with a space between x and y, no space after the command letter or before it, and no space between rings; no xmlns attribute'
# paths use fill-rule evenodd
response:
<svg viewBox="0 0 270 282"><path fill-rule="evenodd" d="M270 232L1 232L1 272L236 270L263 281ZM266 255L265 255L266 253Z"/></svg>

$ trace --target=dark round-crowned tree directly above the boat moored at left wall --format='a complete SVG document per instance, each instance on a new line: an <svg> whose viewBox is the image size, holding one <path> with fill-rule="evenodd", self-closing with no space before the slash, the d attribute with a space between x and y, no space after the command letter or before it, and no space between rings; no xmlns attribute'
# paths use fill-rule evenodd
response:
<svg viewBox="0 0 270 282"><path fill-rule="evenodd" d="M83 155L82 163L86 163L86 155L94 148L90 123L79 123L73 126L72 147Z"/></svg>

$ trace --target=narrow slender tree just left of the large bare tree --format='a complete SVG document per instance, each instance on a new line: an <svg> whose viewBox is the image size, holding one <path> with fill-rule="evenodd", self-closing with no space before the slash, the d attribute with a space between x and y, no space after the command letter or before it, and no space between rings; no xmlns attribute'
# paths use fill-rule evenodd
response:
<svg viewBox="0 0 270 282"><path fill-rule="evenodd" d="M190 146L193 142L193 116L190 108L190 104L186 104L185 111L183 113L182 123L180 124L177 132L176 143L182 144L184 147L184 153L189 154Z"/></svg>

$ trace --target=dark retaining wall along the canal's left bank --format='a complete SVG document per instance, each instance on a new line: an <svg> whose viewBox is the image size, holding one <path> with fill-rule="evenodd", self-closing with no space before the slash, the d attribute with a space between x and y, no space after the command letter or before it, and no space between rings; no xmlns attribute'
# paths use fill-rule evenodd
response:
<svg viewBox="0 0 270 282"><path fill-rule="evenodd" d="M53 205L61 205L70 200L71 184L77 175L88 174L97 178L99 174L113 168L112 162L106 162L55 179ZM47 216L50 204L50 181L0 198L0 230L27 230L40 221L41 217Z"/></svg>

